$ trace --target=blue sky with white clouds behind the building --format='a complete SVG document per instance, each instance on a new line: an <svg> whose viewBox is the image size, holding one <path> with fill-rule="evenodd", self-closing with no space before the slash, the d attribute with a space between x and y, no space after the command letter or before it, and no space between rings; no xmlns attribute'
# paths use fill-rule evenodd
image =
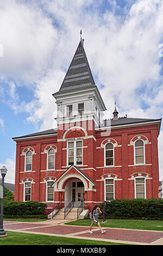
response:
<svg viewBox="0 0 163 256"><path fill-rule="evenodd" d="M116 100L120 116L162 117L162 11L161 0L0 0L0 164L8 168L6 182L15 179L11 138L56 127L52 93L60 88L81 28L107 109L112 112ZM162 141L161 129L159 156Z"/></svg>

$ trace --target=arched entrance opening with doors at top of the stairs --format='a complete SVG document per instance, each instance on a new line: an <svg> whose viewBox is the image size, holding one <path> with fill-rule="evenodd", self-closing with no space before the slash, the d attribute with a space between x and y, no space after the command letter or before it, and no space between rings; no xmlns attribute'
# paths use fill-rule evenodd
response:
<svg viewBox="0 0 163 256"><path fill-rule="evenodd" d="M66 182L65 185L65 207L74 201L74 207L79 207L84 202L84 184L82 180L74 178Z"/></svg>

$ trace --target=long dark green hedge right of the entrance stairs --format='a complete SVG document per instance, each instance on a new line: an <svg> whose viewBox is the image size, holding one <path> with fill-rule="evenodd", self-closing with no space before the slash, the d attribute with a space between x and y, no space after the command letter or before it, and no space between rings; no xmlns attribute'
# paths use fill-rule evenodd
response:
<svg viewBox="0 0 163 256"><path fill-rule="evenodd" d="M103 214L104 203L100 204ZM163 220L162 199L115 199L106 202L106 219Z"/></svg>

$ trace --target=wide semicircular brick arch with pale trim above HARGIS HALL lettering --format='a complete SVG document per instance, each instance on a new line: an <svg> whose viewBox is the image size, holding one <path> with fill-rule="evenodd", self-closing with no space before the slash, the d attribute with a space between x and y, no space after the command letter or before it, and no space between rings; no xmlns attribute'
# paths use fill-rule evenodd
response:
<svg viewBox="0 0 163 256"><path fill-rule="evenodd" d="M72 126L64 132L62 139L76 137L87 137L87 131L81 126Z"/></svg>

